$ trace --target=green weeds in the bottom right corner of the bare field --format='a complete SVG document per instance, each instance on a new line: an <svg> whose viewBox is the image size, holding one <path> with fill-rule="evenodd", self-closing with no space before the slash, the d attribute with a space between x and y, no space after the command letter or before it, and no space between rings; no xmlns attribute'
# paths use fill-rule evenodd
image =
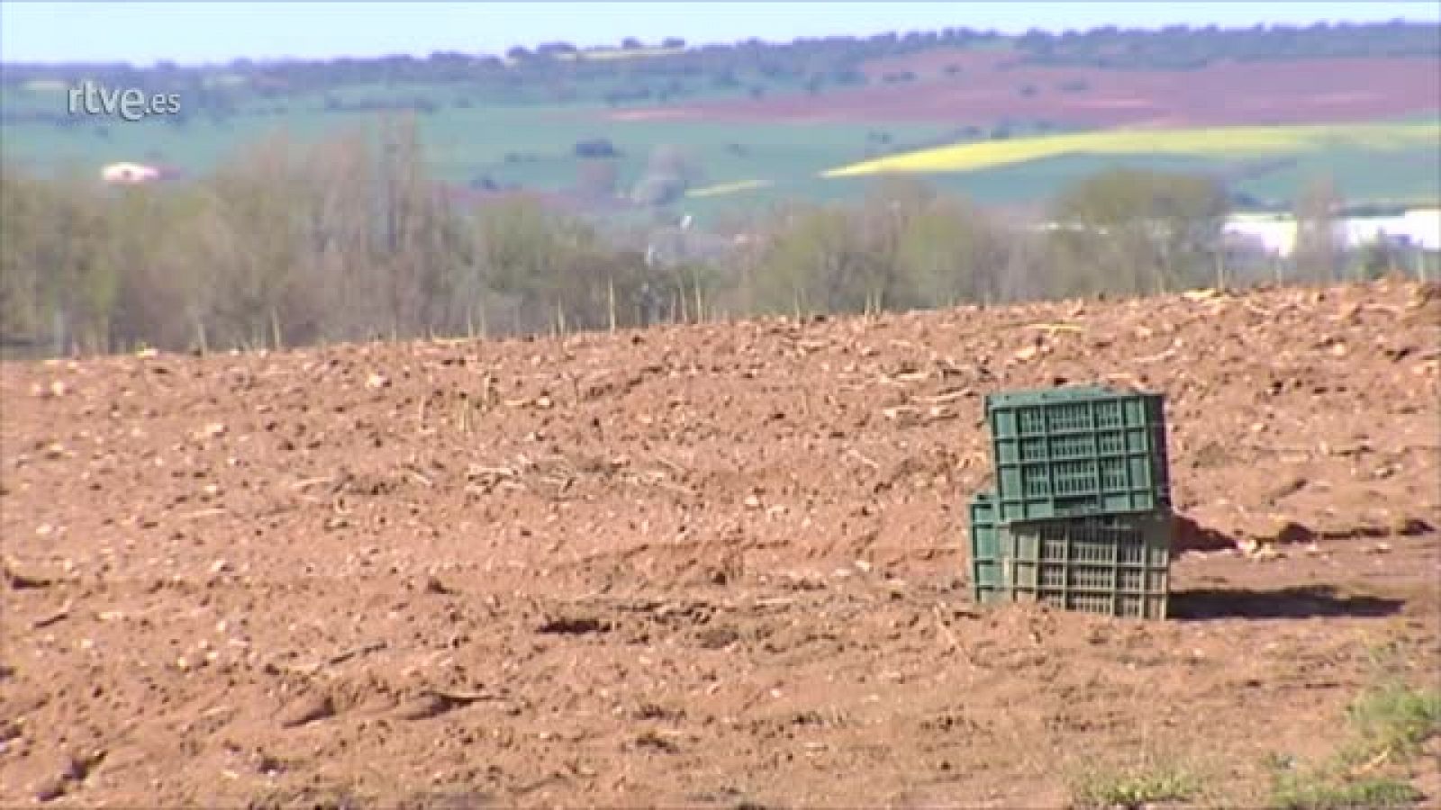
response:
<svg viewBox="0 0 1441 810"><path fill-rule="evenodd" d="M1355 742L1304 771L1272 761L1277 810L1411 807L1422 798L1406 780L1409 761L1441 734L1441 692L1386 682L1346 709Z"/></svg>

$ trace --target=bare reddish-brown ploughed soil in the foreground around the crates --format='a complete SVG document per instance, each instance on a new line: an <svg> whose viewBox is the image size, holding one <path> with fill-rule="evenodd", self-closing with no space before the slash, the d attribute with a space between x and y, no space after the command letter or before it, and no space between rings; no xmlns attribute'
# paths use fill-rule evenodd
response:
<svg viewBox="0 0 1441 810"><path fill-rule="evenodd" d="M0 804L1043 807L1147 758L1254 804L1385 644L1434 667L1438 323L1380 282L4 363ZM970 602L980 396L1061 379L1169 396L1173 621Z"/></svg>

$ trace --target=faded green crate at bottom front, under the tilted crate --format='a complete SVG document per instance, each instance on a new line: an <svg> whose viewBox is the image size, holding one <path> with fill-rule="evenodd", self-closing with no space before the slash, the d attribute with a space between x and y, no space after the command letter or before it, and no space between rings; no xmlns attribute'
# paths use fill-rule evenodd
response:
<svg viewBox="0 0 1441 810"><path fill-rule="evenodd" d="M1004 595L999 601L1166 618L1173 532L1169 510L1001 526Z"/></svg>

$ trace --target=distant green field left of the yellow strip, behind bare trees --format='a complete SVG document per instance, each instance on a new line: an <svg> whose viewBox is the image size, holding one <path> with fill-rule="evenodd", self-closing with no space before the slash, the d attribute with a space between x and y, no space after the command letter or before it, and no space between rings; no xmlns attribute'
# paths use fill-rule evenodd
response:
<svg viewBox="0 0 1441 810"><path fill-rule="evenodd" d="M347 88L333 95L353 102L366 98L367 88ZM450 102L448 97L435 99ZM252 110L222 123L196 117L184 127L163 120L86 121L63 130L48 124L9 124L3 131L3 150L9 159L39 167L98 170L117 160L150 159L187 172L205 172L238 147L278 130L304 143L378 120L373 112L327 111L320 98L284 104L281 115ZM594 104L450 105L434 115L419 115L418 121L440 177L465 184L488 176L496 183L546 190L576 184L581 160L575 144L591 138L608 138L615 146L620 183L628 186L640 177L651 150L667 144L693 156L703 172L703 184L751 176L785 183L867 157L867 146L873 147L872 133L885 131L893 144L934 143L945 133L940 125L914 124L610 121L605 112L610 112L607 107Z"/></svg>

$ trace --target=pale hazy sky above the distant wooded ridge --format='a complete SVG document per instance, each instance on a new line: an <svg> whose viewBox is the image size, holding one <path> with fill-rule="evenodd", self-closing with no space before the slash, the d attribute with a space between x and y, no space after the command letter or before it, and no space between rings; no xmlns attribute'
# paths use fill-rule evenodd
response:
<svg viewBox="0 0 1441 810"><path fill-rule="evenodd" d="M0 61L68 59L148 63L222 62L236 56L326 58L428 55L434 50L501 53L513 45L563 40L611 45L624 36L693 43L758 36L870 35L948 26L1023 32L1114 25L1251 26L1441 19L1429 1L1124 3L0 3Z"/></svg>

